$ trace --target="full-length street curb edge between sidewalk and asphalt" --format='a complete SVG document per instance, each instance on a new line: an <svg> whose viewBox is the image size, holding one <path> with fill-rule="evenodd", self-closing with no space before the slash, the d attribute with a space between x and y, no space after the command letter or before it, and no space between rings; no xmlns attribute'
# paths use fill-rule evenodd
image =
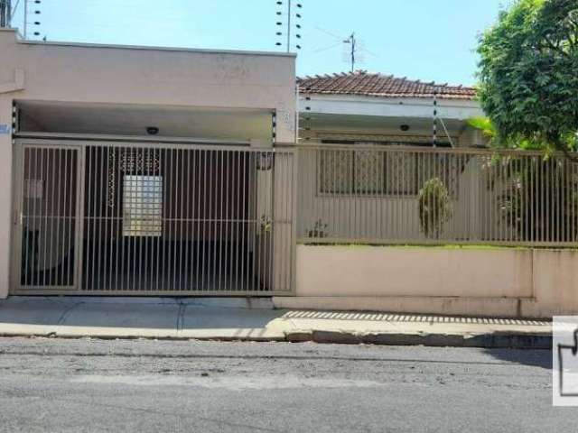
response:
<svg viewBox="0 0 578 433"><path fill-rule="evenodd" d="M284 336L195 336L180 332L161 332L138 335L136 333L82 333L51 330L49 332L1 332L0 337L48 337L48 338L95 338L154 339L154 340L200 340L200 341L246 341L246 342L313 342L338 345L424 345L433 347L480 347L515 349L551 349L550 332L508 332L465 334L426 333L356 333L350 331L324 331L315 329L284 331Z"/></svg>

